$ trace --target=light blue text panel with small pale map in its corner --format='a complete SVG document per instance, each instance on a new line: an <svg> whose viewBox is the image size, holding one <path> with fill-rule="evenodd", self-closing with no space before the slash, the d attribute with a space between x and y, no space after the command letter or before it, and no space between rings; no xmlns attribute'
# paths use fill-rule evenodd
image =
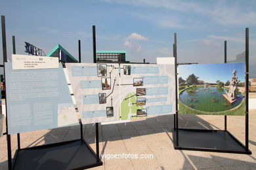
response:
<svg viewBox="0 0 256 170"><path fill-rule="evenodd" d="M78 124L60 63L58 69L15 70L5 63L5 76L9 134Z"/></svg>

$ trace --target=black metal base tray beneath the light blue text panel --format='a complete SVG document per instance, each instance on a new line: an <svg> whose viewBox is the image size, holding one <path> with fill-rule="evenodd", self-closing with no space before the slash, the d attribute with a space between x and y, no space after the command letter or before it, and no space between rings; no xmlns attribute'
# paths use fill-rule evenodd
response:
<svg viewBox="0 0 256 170"><path fill-rule="evenodd" d="M16 152L13 169L86 169L102 165L89 144L79 139L23 148Z"/></svg>

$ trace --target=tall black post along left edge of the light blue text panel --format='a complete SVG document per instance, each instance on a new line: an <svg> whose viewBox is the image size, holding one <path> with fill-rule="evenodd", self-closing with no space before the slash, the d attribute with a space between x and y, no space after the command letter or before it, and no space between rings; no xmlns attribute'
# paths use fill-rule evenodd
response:
<svg viewBox="0 0 256 170"><path fill-rule="evenodd" d="M2 42L3 42L3 72L5 75L5 62L7 62L7 46L6 46L6 34L5 34L5 16L1 16L1 26L2 26ZM5 80L6 87L6 80ZM7 103L7 95L5 92L5 102ZM5 105L6 112L6 132L7 132L7 152L8 152L8 168L12 169L12 149L11 149L11 135L8 134L8 122L7 122L7 104Z"/></svg>

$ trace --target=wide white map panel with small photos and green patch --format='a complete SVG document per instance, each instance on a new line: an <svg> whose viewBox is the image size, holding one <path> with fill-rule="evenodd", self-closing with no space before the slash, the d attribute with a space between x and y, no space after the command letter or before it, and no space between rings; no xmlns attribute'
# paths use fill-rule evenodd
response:
<svg viewBox="0 0 256 170"><path fill-rule="evenodd" d="M174 114L174 65L66 63L83 124Z"/></svg>

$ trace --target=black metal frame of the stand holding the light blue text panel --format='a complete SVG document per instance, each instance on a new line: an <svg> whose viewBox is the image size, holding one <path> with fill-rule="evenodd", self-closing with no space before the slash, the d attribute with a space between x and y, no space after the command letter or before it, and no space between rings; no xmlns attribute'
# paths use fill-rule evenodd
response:
<svg viewBox="0 0 256 170"><path fill-rule="evenodd" d="M4 67L4 75L5 75L5 62L7 62L7 43L6 43L6 31L5 31L5 16L1 16L1 29L2 29L2 41L3 41L3 67ZM94 43L95 43L95 41L94 41ZM79 62L81 62L81 44L80 44L80 41L79 41L78 46L79 46ZM13 54L16 54L15 37L14 36L12 36L12 50L13 50ZM5 86L6 86L6 81L5 81ZM7 96L6 96L6 101L7 101ZM83 140L83 124L81 123L81 120L79 120L80 131L81 131L81 139L77 139L77 140L74 140L74 141L65 141L65 142L61 142L61 143L45 144L45 145L41 145L41 146L33 146L33 147L30 147L30 148L20 148L20 133L17 133L18 149L16 150L16 152L14 154L14 158L12 160L11 135L8 133L7 105L5 105L5 107L6 107L6 133L4 135L7 135L7 153L8 153L8 167L9 167L9 170L14 169L16 158L18 158L18 154L21 150L49 148L49 147L53 147L53 146L60 146L60 145L63 145L63 144L72 143L74 141L83 141L83 144L85 144L87 146L89 151L96 158L95 163L90 164L90 165L85 165L83 167L77 167L75 169L86 169L86 168L90 168L90 167L100 166L100 165L103 164L102 161L100 160L100 156L99 156L98 123L95 126L95 130L96 130L96 135L95 135L95 137L96 137L96 154L95 154L95 152L89 146L89 144L86 141ZM68 153L66 153L66 154L68 154Z"/></svg>

